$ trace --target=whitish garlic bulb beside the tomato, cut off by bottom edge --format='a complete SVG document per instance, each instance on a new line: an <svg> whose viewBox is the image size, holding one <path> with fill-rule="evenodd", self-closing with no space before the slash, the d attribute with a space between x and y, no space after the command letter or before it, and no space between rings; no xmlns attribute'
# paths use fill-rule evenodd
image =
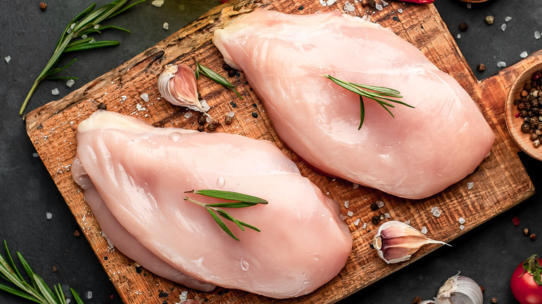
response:
<svg viewBox="0 0 542 304"><path fill-rule="evenodd" d="M471 278L459 276L459 273L446 280L434 301L420 304L482 304L484 296L479 285Z"/></svg>

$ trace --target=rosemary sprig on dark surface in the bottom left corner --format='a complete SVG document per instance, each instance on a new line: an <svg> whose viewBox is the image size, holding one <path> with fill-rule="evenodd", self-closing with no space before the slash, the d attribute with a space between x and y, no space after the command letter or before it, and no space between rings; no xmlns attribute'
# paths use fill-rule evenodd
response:
<svg viewBox="0 0 542 304"><path fill-rule="evenodd" d="M32 271L30 265L24 260L24 257L21 253L17 252L17 257L22 264L22 267L26 271L26 274L30 278L30 283L26 282L21 276L19 269L15 266L13 258L11 257L10 251L8 249L8 243L6 240L3 241L3 248L6 252L6 257L0 255L0 278L7 280L8 282L15 285L15 287L10 287L8 285L0 284L0 290L4 292L9 292L15 296L20 296L26 298L27 300L34 301L35 303L40 304L67 304L66 298L60 287L60 284L54 285L54 292L45 284L44 280L40 278L37 274ZM83 304L83 300L79 297L79 294L72 287L69 288L69 291L72 292L74 296L74 301L77 304Z"/></svg>

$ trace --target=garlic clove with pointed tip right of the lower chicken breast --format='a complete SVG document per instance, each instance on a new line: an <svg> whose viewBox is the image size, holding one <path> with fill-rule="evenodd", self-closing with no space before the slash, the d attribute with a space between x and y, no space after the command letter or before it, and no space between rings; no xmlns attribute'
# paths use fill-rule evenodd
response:
<svg viewBox="0 0 542 304"><path fill-rule="evenodd" d="M413 253L425 244L448 245L445 242L429 239L419 230L402 221L387 221L381 224L372 239L372 245L379 257L388 264L409 260Z"/></svg>

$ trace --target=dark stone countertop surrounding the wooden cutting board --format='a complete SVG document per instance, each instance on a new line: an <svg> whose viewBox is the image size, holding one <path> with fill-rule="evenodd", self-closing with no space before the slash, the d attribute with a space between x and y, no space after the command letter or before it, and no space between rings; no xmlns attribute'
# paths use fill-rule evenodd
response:
<svg viewBox="0 0 542 304"><path fill-rule="evenodd" d="M1 0L0 10L0 112L3 143L0 144L0 240L6 239L12 253L20 251L28 263L49 284L74 287L85 303L122 303L106 272L86 239L74 236L77 223L60 196L33 148L24 123L17 115L33 80L51 56L52 48L69 19L90 1L45 0L47 10L39 9L38 0ZM343 3L339 0L338 3ZM351 1L352 2L352 1ZM98 5L108 1L97 1ZM78 60L63 75L77 76L74 87L65 81L44 81L36 90L28 109L61 99L81 85L121 65L145 51L178 29L220 4L218 0L166 0L162 8L141 3L115 17L109 24L128 28L131 34L107 31L99 40L120 40L120 47L78 52L66 56ZM473 4L457 0L436 0L436 7L475 75L482 79L500 69L498 61L511 65L520 60L520 53L542 49L542 39L534 39L534 31L542 31L540 0L490 0ZM495 17L495 24L484 23L486 15ZM505 17L511 20L505 22ZM170 24L169 31L162 28ZM468 30L459 31L466 22ZM501 25L507 24L505 31ZM3 60L10 56L10 62ZM69 58L69 59L68 59ZM476 70L479 63L486 71ZM52 96L58 87L60 95ZM535 187L542 185L541 162L521 153ZM420 296L425 300L436 296L438 288L459 271L485 287L484 303L495 296L499 303L517 303L509 289L509 278L517 264L529 255L542 255L542 239L531 241L523 228L542 236L541 196L520 203L511 210L482 224L451 242L452 247L439 248L413 264L379 280L340 303L411 303ZM47 212L52 219L46 219ZM520 226L512 224L518 217ZM3 250L0 250L3 253ZM56 271L53 271L53 268ZM87 292L92 292L88 298ZM28 303L6 292L0 292L0 304ZM175 303L170 299L169 303Z"/></svg>

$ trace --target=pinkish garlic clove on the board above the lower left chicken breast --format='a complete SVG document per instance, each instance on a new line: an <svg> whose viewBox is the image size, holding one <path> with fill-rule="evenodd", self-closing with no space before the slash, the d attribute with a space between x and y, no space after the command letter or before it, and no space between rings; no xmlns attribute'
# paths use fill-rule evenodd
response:
<svg viewBox="0 0 542 304"><path fill-rule="evenodd" d="M174 105L205 114L209 110L208 105L199 102L196 76L186 64L166 65L158 77L158 91Z"/></svg>

